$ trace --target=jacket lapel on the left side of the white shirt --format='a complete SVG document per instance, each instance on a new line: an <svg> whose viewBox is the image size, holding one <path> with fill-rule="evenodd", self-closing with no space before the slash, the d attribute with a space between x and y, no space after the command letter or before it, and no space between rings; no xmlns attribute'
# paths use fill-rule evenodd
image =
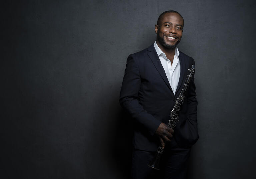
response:
<svg viewBox="0 0 256 179"><path fill-rule="evenodd" d="M158 73L161 75L162 79L164 80L165 84L169 87L169 89L171 90L171 93L173 94L172 88L171 88L169 81L166 77L164 68L163 68L163 66L160 62L160 59L156 53L154 44L148 48L148 55L149 55L151 61L153 62L154 66L156 67Z"/></svg>

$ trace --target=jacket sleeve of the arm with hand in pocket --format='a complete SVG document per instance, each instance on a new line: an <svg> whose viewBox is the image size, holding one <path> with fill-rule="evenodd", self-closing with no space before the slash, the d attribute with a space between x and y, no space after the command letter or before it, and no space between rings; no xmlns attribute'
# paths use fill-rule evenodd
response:
<svg viewBox="0 0 256 179"><path fill-rule="evenodd" d="M193 59L192 59L193 60ZM195 61L193 60L193 64ZM195 74L193 74L193 77ZM180 141L180 146L191 147L196 143L199 138L197 130L197 99L196 99L196 86L194 80L192 80L188 95L187 95L187 111L185 114L181 114L181 124L179 130L176 130L176 141Z"/></svg>

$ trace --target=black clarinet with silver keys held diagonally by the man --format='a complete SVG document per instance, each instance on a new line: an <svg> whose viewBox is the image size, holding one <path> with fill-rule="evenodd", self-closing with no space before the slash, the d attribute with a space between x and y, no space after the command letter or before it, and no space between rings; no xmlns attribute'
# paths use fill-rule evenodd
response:
<svg viewBox="0 0 256 179"><path fill-rule="evenodd" d="M188 87L190 85L190 82L193 79L192 75L195 72L195 65L192 65L192 68L188 69L188 72L189 72L189 75L187 76L185 83L183 85L183 88L179 94L179 97L175 101L174 107L169 115L170 119L167 124L168 127L174 128L176 126L177 122L179 121L179 111L180 111L181 105L184 102L184 98L185 98L186 92L188 90ZM164 149L162 147L159 146L157 148L154 160L151 162L151 164L148 164L149 167L152 167L156 170L160 169L159 164L160 164L160 158L161 158L163 151L164 151Z"/></svg>

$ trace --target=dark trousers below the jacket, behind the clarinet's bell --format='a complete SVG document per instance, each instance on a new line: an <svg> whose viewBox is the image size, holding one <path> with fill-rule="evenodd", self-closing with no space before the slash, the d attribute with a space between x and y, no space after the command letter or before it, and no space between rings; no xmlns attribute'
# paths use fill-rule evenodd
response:
<svg viewBox="0 0 256 179"><path fill-rule="evenodd" d="M190 156L190 148L166 146L160 160L160 170L155 170L150 164L155 152L133 150L132 178L133 179L185 179Z"/></svg>

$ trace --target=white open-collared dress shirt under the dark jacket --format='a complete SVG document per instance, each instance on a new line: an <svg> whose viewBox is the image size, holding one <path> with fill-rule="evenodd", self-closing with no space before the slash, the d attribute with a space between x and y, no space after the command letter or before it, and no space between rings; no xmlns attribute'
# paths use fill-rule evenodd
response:
<svg viewBox="0 0 256 179"><path fill-rule="evenodd" d="M171 85L173 94L177 90L177 86L180 79L180 61L179 61L179 51L178 48L175 47L175 55L173 58L173 63L171 64L170 60L167 59L165 53L158 47L156 42L154 43L154 47L156 49L156 53L161 61L161 64L164 68L166 77Z"/></svg>

